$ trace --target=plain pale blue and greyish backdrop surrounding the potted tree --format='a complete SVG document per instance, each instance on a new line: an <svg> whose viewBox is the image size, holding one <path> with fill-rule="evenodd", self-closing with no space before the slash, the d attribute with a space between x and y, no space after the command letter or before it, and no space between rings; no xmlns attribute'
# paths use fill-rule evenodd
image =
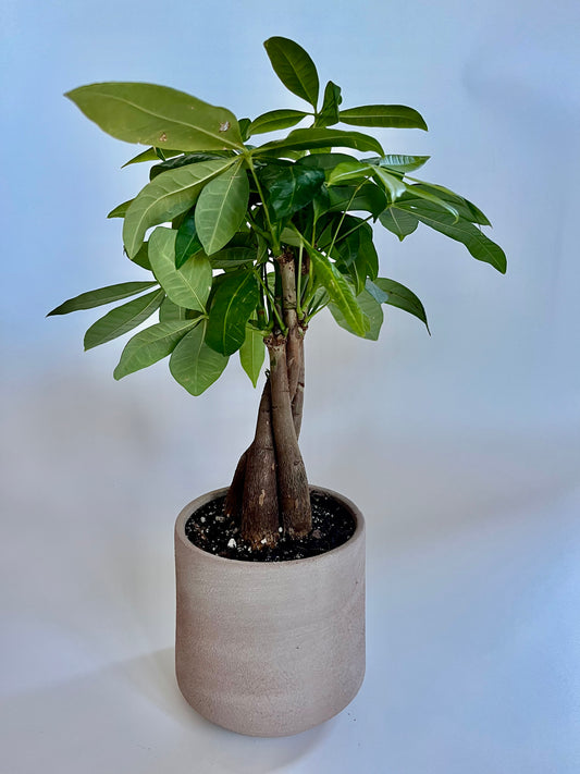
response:
<svg viewBox="0 0 580 774"><path fill-rule="evenodd" d="M1 14L9 771L577 771L578 4L9 1ZM335 721L257 741L187 711L170 650L173 515L227 482L257 394L235 358L200 398L164 363L115 383L119 341L82 353L99 310L44 316L141 277L106 214L145 168L120 170L134 148L62 94L148 81L238 116L299 107L261 47L271 35L305 46L345 106L420 110L428 134L385 130L383 145L431 155L422 176L483 208L508 274L425 228L402 245L380 231L382 274L422 298L432 337L395 309L378 343L314 320L303 450L310 479L367 515L369 668Z"/></svg>

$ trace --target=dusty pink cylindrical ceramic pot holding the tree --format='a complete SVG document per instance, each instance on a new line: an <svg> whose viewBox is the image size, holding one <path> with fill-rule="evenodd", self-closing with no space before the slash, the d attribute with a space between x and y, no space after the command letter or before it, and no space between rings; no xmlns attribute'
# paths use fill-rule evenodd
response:
<svg viewBox="0 0 580 774"><path fill-rule="evenodd" d="M348 500L320 487L357 521L354 536L319 556L238 562L196 548L175 524L175 671L189 704L224 728L289 736L343 710L365 676L365 520Z"/></svg>

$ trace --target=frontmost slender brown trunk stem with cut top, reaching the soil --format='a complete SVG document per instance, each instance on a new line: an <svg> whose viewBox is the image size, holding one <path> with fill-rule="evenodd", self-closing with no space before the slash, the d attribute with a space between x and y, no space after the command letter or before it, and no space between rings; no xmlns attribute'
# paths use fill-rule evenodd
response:
<svg viewBox="0 0 580 774"><path fill-rule="evenodd" d="M310 493L294 429L284 339L266 340L270 354L272 429L277 463L277 493L284 531L299 538L312 529Z"/></svg>

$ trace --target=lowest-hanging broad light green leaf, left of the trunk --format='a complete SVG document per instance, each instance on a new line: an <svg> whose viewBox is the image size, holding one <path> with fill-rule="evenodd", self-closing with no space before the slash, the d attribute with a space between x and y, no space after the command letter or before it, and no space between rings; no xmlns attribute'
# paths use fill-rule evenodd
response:
<svg viewBox="0 0 580 774"><path fill-rule="evenodd" d="M208 321L201 320L193 331L180 341L169 361L169 369L183 388L192 395L201 395L217 381L229 358L206 344Z"/></svg>

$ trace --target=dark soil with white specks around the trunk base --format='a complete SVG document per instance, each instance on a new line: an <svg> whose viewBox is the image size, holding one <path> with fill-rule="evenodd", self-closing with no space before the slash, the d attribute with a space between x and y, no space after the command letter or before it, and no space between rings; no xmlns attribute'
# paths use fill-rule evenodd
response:
<svg viewBox="0 0 580 774"><path fill-rule="evenodd" d="M323 554L346 543L355 532L355 519L333 497L312 492L312 531L300 540L289 540L282 533L275 546L256 550L239 537L232 519L224 516L225 497L218 497L196 511L185 524L187 538L208 553L242 562L288 562Z"/></svg>

